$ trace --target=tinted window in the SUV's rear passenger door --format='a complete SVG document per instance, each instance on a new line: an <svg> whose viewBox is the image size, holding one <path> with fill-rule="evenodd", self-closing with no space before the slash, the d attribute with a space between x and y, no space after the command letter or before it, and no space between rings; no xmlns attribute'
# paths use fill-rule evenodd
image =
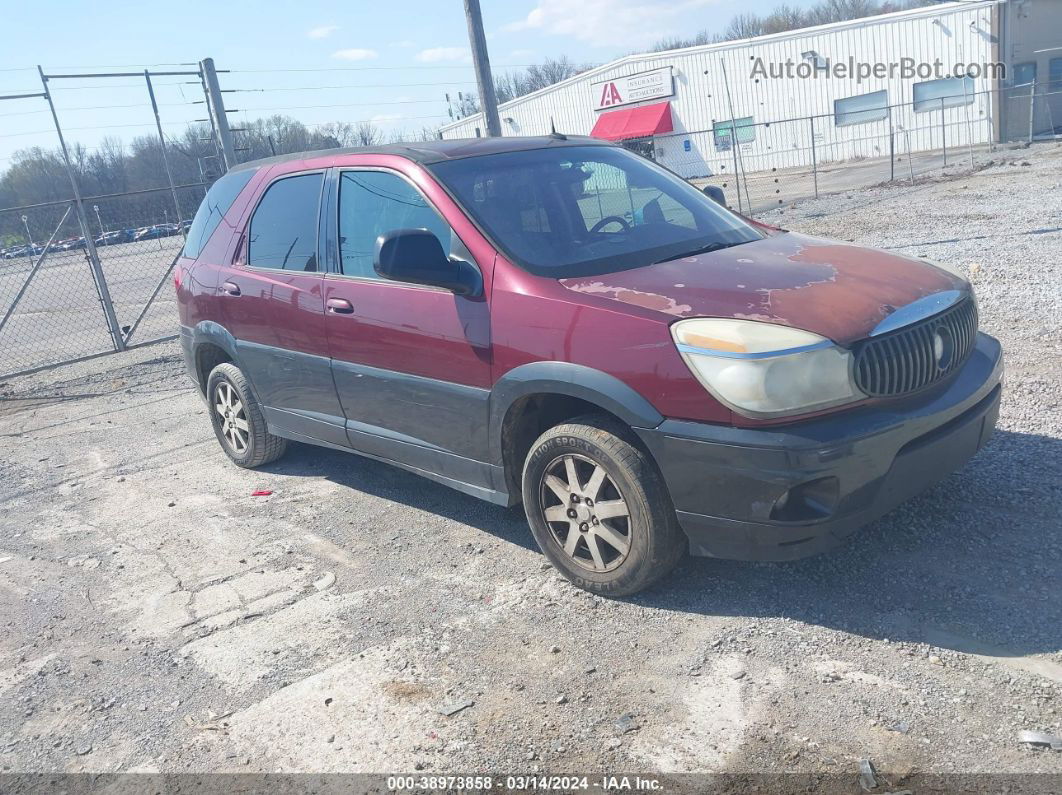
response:
<svg viewBox="0 0 1062 795"><path fill-rule="evenodd" d="M247 264L284 271L318 270L318 208L324 174L277 179L255 208Z"/></svg>

